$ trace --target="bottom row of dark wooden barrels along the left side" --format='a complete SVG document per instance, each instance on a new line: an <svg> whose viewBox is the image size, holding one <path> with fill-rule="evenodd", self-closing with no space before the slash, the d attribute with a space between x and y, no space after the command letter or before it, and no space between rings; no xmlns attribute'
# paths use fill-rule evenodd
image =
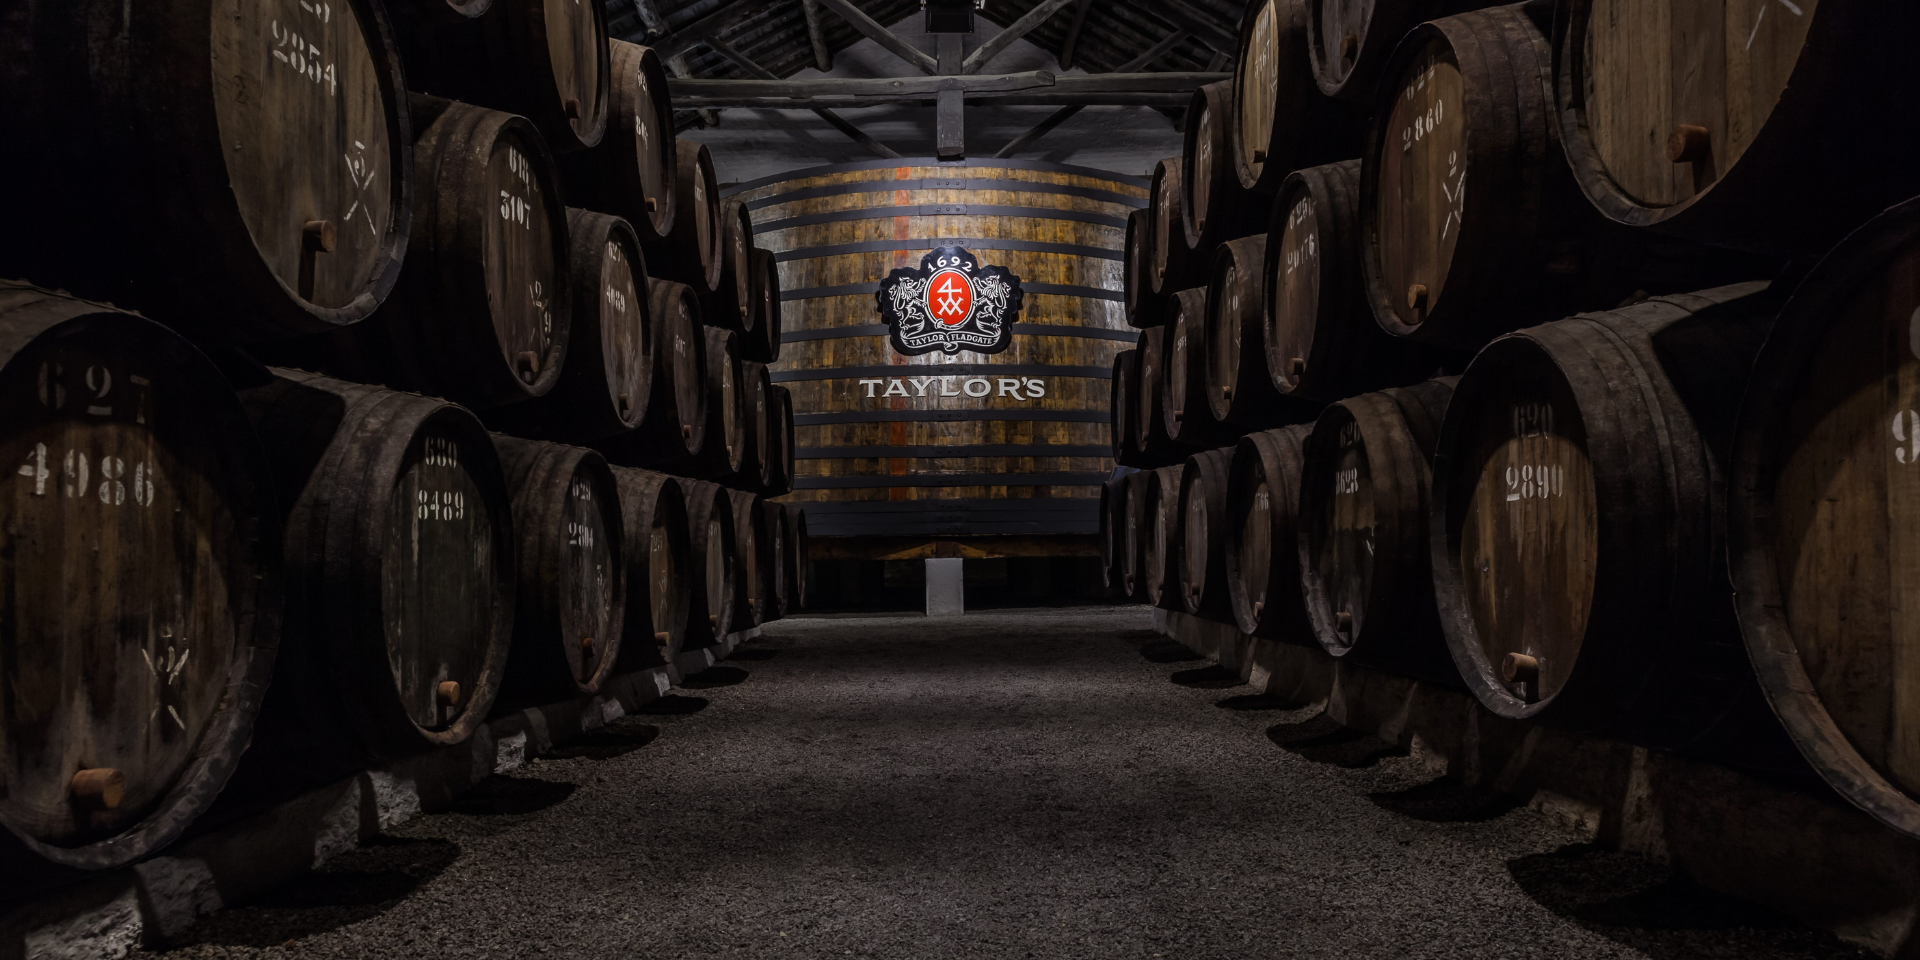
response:
<svg viewBox="0 0 1920 960"><path fill-rule="evenodd" d="M12 280L0 407L10 881L150 854L230 778L259 799L459 743L804 595L804 516L755 492Z"/></svg>

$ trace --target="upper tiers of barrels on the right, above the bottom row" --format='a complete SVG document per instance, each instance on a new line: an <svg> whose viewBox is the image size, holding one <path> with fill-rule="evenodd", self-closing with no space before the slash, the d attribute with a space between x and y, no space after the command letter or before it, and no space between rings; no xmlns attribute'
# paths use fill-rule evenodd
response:
<svg viewBox="0 0 1920 960"><path fill-rule="evenodd" d="M1774 6L1254 0L1235 79L1194 92L1183 156L1129 219L1129 323L1171 326L1208 290L1244 317L1215 332L1236 348L1215 407L1327 403L1818 255L1920 192L1893 159L1910 125L1872 156L1816 146L1920 88L1889 46L1920 10Z"/></svg>

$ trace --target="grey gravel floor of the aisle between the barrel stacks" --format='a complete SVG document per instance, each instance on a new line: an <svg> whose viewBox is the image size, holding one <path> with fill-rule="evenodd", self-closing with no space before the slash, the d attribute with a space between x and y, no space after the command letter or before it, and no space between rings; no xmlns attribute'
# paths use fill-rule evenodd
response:
<svg viewBox="0 0 1920 960"><path fill-rule="evenodd" d="M772 624L165 956L1860 956L1271 708L1148 624Z"/></svg>

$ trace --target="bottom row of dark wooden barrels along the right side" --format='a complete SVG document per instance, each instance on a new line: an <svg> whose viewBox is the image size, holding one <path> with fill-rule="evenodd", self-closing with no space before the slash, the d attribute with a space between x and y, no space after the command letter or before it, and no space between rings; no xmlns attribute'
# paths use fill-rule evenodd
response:
<svg viewBox="0 0 1920 960"><path fill-rule="evenodd" d="M1110 584L1500 716L1811 766L1920 835L1916 265L1920 200L1797 282L1528 326L1116 476Z"/></svg>

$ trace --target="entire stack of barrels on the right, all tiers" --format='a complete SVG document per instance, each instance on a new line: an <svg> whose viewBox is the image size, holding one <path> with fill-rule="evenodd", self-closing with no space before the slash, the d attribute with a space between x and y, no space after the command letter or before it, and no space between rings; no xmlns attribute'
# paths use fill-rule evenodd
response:
<svg viewBox="0 0 1920 960"><path fill-rule="evenodd" d="M1920 835L1920 136L1818 146L1920 12L1642 13L1248 6L1127 228L1108 578Z"/></svg>

